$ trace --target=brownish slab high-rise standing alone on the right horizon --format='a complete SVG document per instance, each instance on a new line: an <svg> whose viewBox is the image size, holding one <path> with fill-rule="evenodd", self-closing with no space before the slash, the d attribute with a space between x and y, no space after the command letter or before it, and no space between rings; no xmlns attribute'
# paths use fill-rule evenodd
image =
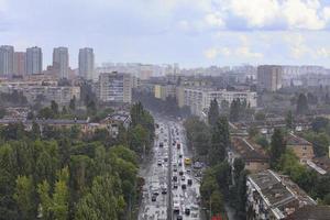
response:
<svg viewBox="0 0 330 220"><path fill-rule="evenodd" d="M282 66L263 65L257 67L257 85L262 90L276 91L282 88Z"/></svg>

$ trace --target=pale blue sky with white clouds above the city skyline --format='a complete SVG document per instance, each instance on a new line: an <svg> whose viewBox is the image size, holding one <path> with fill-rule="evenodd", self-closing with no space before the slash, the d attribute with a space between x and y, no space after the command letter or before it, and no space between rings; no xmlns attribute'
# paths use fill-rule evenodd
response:
<svg viewBox="0 0 330 220"><path fill-rule="evenodd" d="M96 62L330 67L330 0L0 0L0 44Z"/></svg>

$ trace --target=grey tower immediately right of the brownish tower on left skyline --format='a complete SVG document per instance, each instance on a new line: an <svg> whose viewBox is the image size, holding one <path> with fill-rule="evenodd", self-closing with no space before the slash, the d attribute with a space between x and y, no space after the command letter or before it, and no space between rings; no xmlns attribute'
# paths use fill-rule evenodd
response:
<svg viewBox="0 0 330 220"><path fill-rule="evenodd" d="M42 48L34 46L26 48L26 74L41 74L43 70Z"/></svg>

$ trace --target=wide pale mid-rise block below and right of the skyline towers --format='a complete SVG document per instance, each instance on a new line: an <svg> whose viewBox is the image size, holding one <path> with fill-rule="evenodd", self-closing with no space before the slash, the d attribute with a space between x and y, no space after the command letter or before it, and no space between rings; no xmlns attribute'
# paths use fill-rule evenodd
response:
<svg viewBox="0 0 330 220"><path fill-rule="evenodd" d="M130 74L101 73L99 76L99 99L105 102L132 101L132 80Z"/></svg>

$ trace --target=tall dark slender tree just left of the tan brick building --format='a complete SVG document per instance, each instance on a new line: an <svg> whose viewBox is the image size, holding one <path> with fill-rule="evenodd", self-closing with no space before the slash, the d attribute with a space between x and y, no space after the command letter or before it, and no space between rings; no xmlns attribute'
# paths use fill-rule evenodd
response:
<svg viewBox="0 0 330 220"><path fill-rule="evenodd" d="M274 130L271 143L271 167L276 168L282 154L285 152L286 143L279 129Z"/></svg>

